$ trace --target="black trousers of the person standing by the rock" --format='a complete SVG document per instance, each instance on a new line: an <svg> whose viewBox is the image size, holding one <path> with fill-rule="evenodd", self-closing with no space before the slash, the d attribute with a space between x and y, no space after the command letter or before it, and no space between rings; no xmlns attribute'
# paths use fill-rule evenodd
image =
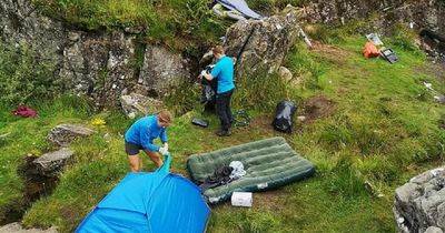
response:
<svg viewBox="0 0 445 233"><path fill-rule="evenodd" d="M226 91L216 95L216 113L221 122L221 130L229 130L234 118L231 116L230 99L234 90Z"/></svg>

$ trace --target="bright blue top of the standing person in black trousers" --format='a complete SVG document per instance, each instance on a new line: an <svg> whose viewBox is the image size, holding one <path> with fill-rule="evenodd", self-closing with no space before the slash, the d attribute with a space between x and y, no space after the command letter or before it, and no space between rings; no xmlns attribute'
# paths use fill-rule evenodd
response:
<svg viewBox="0 0 445 233"><path fill-rule="evenodd" d="M218 94L230 91L235 88L234 83L234 61L231 58L224 55L216 62L211 70L211 77L218 81Z"/></svg>

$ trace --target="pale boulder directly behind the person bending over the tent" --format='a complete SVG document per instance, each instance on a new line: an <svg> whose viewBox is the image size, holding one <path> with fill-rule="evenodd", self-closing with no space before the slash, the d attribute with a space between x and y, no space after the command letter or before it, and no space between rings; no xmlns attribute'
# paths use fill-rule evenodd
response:
<svg viewBox="0 0 445 233"><path fill-rule="evenodd" d="M159 112L164 108L162 101L155 100L137 93L120 97L120 104L128 118L147 115Z"/></svg>

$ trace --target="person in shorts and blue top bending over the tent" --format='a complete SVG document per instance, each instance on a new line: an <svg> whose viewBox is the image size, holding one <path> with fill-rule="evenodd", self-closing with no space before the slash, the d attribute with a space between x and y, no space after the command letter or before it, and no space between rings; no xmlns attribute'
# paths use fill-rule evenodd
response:
<svg viewBox="0 0 445 233"><path fill-rule="evenodd" d="M167 126L171 123L171 113L162 110L158 114L148 115L137 120L125 134L125 150L130 162L131 171L139 172L139 151L142 150L157 165L162 165L159 154L168 153ZM160 138L162 146L154 144Z"/></svg>

